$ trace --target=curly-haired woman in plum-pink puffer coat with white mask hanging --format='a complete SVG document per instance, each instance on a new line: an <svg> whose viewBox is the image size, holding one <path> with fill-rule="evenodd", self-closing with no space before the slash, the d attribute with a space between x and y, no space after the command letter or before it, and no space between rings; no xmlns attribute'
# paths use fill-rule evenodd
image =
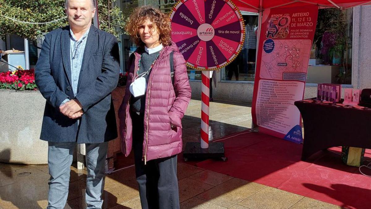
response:
<svg viewBox="0 0 371 209"><path fill-rule="evenodd" d="M182 151L181 119L191 98L185 60L171 41L170 20L160 10L139 7L127 25L139 47L129 58L127 88L119 109L121 150L128 156L134 149L142 208L179 208L177 154ZM140 77L146 87L133 83ZM138 96L131 85L143 88L144 94Z"/></svg>

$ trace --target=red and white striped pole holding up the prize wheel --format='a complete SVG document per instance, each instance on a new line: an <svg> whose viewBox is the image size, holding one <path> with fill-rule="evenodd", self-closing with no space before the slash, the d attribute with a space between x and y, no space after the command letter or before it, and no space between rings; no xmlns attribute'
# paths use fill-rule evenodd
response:
<svg viewBox="0 0 371 209"><path fill-rule="evenodd" d="M209 148L210 71L202 71L201 81L201 148Z"/></svg>

